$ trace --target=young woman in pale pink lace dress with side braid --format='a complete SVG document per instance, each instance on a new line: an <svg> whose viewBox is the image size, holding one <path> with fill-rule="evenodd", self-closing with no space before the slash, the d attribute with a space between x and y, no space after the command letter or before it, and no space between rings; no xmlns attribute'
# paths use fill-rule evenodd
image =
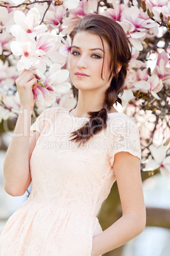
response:
<svg viewBox="0 0 170 256"><path fill-rule="evenodd" d="M129 41L121 25L101 15L82 18L70 36L74 110L47 108L30 127L34 68L16 79L21 111L4 188L22 196L32 181L32 191L3 229L1 256L99 256L145 228L138 127L113 106L121 103ZM102 231L96 215L115 180L122 217Z"/></svg>

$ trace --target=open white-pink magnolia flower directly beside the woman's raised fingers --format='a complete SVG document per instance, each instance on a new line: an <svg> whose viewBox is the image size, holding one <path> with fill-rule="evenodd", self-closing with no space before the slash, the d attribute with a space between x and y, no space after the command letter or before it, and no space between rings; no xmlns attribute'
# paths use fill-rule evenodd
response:
<svg viewBox="0 0 170 256"><path fill-rule="evenodd" d="M71 88L70 83L65 82L69 77L69 71L61 70L60 64L53 64L49 68L47 78L39 69L36 69L36 73L41 79L39 86L33 90L33 94L41 106L51 106L51 103L56 101L56 96L61 96Z"/></svg>

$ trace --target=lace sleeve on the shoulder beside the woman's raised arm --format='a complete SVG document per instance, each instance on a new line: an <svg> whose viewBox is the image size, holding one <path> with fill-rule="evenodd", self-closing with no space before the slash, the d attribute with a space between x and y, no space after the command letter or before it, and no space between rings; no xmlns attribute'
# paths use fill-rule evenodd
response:
<svg viewBox="0 0 170 256"><path fill-rule="evenodd" d="M36 121L30 126L30 136L34 131L38 131L42 133L45 125L51 125L51 120L50 116L53 111L55 111L55 107L47 108L46 110L42 111L42 113L37 117Z"/></svg>

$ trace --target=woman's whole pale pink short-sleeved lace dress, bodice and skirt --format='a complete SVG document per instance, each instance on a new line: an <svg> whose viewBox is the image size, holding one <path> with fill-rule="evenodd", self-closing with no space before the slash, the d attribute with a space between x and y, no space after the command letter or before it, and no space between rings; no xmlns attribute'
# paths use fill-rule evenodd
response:
<svg viewBox="0 0 170 256"><path fill-rule="evenodd" d="M141 147L133 120L110 113L107 129L77 148L70 132L87 121L51 107L30 127L41 132L30 159L32 191L4 226L1 256L91 255L93 236L103 232L96 215L115 181L114 155L141 159Z"/></svg>

